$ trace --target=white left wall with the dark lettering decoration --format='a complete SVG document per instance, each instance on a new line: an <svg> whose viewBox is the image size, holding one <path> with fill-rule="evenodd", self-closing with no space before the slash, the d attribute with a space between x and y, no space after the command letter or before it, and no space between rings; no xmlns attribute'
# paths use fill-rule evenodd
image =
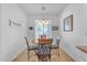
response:
<svg viewBox="0 0 87 65"><path fill-rule="evenodd" d="M17 4L1 4L1 61L12 61L24 47L26 17ZM9 20L22 26L9 25Z"/></svg>

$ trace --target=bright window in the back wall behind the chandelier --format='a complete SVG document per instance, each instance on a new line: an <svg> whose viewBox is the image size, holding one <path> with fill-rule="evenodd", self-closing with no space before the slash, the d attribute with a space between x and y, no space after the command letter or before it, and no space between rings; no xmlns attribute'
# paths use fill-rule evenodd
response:
<svg viewBox="0 0 87 65"><path fill-rule="evenodd" d="M41 39L42 35L52 37L52 21L51 20L36 20L35 21L35 37Z"/></svg>

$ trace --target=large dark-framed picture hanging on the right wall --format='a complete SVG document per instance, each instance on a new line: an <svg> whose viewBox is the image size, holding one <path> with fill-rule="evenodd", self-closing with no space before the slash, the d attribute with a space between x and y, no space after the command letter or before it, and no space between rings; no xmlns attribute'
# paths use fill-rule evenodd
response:
<svg viewBox="0 0 87 65"><path fill-rule="evenodd" d="M64 31L65 32L73 31L73 14L64 19Z"/></svg>

